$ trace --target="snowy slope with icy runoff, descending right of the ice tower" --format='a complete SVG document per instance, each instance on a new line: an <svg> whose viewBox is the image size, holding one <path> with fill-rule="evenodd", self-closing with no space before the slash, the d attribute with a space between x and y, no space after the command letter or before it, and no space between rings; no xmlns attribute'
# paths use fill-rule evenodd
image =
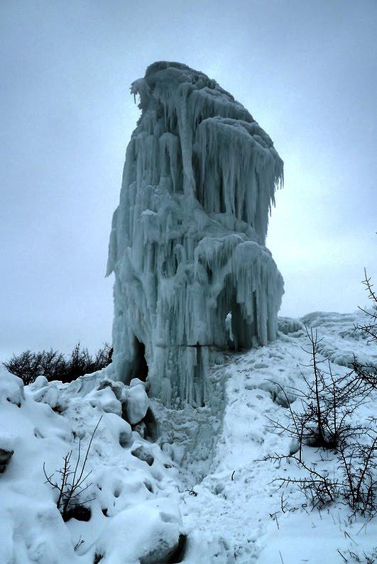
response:
<svg viewBox="0 0 377 564"><path fill-rule="evenodd" d="M340 503L312 511L296 487L280 490L273 482L288 473L300 475L293 465L262 460L290 452L290 437L273 432L270 420L287 417L278 385L289 394L290 387L302 386L303 375L312 376L309 355L302 350L308 344L303 322L317 328L322 349L332 355L334 374L341 375L348 371L345 366L353 354L377 365L377 347L354 331L357 321L360 314L323 312L302 320L280 319L277 341L229 355L212 371L217 392L208 407L185 411L160 407L160 421L165 421L160 443L180 466L185 484L181 510L190 539L187 562L342 563L338 549L349 562L366 562L363 551L371 555L377 546L376 519L367 526L361 517L350 521L351 510ZM375 416L376 405L374 394L354 414L357 423ZM321 453L306 448L305 456L315 463ZM334 456L329 456L324 468L332 472L334 465ZM360 560L351 560L347 551Z"/></svg>

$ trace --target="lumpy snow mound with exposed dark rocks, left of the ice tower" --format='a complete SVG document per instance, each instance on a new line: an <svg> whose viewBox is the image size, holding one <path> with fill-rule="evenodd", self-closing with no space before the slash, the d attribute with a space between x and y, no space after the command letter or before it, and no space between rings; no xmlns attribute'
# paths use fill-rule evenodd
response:
<svg viewBox="0 0 377 564"><path fill-rule="evenodd" d="M151 438L133 431L150 409L141 388L111 382L106 370L70 385L38 379L26 388L1 372L0 463L1 453L13 451L0 473L1 563L155 564L182 550L177 471ZM80 505L72 504L65 522L43 465L60 483L63 457L72 451L73 469L80 441L80 470L100 418ZM148 437L148 421L145 428Z"/></svg>

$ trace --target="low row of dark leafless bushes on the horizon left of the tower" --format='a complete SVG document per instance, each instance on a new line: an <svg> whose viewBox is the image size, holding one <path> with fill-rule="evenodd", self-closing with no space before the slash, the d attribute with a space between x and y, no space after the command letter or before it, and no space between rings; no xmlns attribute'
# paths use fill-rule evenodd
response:
<svg viewBox="0 0 377 564"><path fill-rule="evenodd" d="M13 355L4 362L4 367L23 380L25 385L31 384L38 376L45 376L48 380L72 382L76 378L102 370L111 363L112 347L104 343L94 356L87 348L77 343L68 358L58 350L42 350L32 353L26 350L20 355Z"/></svg>

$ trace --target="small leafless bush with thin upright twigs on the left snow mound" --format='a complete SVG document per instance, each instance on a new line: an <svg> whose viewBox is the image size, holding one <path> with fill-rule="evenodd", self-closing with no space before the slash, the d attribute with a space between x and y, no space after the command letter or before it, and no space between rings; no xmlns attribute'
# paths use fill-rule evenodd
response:
<svg viewBox="0 0 377 564"><path fill-rule="evenodd" d="M56 470L56 472L60 475L60 478L58 480L54 480L55 472L48 475L45 469L45 463L43 463L43 472L46 478L45 483L50 484L50 486L53 487L53 490L58 490L58 500L56 502L56 507L58 507L64 521L70 519L70 516L72 516L72 509L75 509L75 507L77 506L83 507L84 504L87 504L91 502L92 499L94 499L82 497L82 494L92 485L85 484L87 478L92 473L92 470L86 472L85 468L87 465L89 450L92 446L94 434L97 431L101 419L102 417L99 418L97 425L94 427L94 431L90 437L89 444L84 455L84 460L82 460L81 463L81 468L81 438L79 439L79 445L77 447L77 460L75 463L75 468L71 470L71 458L73 451L70 450L70 452L67 453L63 458L62 468L60 468L60 470Z"/></svg>

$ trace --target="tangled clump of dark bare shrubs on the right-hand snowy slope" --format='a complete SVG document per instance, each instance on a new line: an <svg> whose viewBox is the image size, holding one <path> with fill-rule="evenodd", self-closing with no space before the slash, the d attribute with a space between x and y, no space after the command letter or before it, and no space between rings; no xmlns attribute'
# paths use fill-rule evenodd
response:
<svg viewBox="0 0 377 564"><path fill-rule="evenodd" d="M291 388L300 399L301 409L293 409L285 390L278 385L287 399L288 422L271 421L276 431L288 433L297 442L297 449L290 456L276 454L264 460L275 463L284 460L303 470L304 477L282 477L277 481L280 485L300 487L312 507L321 509L337 500L347 504L352 514L374 516L377 514L376 419L357 425L352 414L377 387L376 369L361 365L355 358L354 370L346 375L334 375L330 363L326 359L319 360L321 341L317 332L307 330L307 337L310 342L306 350L310 355L308 366L312 367L313 377L309 380L303 375L303 389ZM325 362L326 370L322 367ZM332 475L321 470L324 466L321 463L305 462L303 446L317 447L321 459L324 450L332 450Z"/></svg>

